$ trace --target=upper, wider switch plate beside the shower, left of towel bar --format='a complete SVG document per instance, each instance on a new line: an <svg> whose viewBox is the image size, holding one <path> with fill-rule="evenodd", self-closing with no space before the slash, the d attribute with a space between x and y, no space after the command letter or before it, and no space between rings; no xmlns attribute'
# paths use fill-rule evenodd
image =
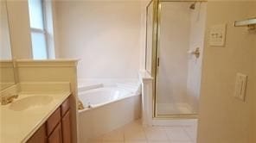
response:
<svg viewBox="0 0 256 143"><path fill-rule="evenodd" d="M210 31L209 44L212 47L224 47L227 24L214 25Z"/></svg>

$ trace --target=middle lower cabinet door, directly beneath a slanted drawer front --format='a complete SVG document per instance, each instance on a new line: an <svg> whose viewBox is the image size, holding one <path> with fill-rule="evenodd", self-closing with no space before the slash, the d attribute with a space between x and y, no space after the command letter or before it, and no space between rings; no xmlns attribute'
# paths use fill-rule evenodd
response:
<svg viewBox="0 0 256 143"><path fill-rule="evenodd" d="M53 133L48 136L48 143L62 143L61 123L59 123Z"/></svg>

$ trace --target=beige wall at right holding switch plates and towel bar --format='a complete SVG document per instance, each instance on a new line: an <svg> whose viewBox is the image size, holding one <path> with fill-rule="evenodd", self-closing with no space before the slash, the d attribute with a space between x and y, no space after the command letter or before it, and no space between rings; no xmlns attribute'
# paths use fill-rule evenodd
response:
<svg viewBox="0 0 256 143"><path fill-rule="evenodd" d="M253 143L256 35L234 28L234 21L255 16L255 7L255 2L208 2L198 143ZM222 23L227 23L226 46L210 47L209 28ZM237 72L248 75L245 103L234 98Z"/></svg>

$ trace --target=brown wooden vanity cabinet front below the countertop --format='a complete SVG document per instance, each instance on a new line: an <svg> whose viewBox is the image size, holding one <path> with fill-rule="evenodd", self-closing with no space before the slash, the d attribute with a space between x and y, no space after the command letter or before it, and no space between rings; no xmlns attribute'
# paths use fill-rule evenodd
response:
<svg viewBox="0 0 256 143"><path fill-rule="evenodd" d="M27 143L71 143L69 97L54 111Z"/></svg>

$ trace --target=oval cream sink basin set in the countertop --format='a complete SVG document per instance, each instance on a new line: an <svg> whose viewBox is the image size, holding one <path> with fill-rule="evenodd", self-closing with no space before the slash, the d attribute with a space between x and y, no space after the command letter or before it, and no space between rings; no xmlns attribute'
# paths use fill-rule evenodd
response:
<svg viewBox="0 0 256 143"><path fill-rule="evenodd" d="M52 96L28 96L10 104L10 109L15 111L38 109L53 101Z"/></svg>

